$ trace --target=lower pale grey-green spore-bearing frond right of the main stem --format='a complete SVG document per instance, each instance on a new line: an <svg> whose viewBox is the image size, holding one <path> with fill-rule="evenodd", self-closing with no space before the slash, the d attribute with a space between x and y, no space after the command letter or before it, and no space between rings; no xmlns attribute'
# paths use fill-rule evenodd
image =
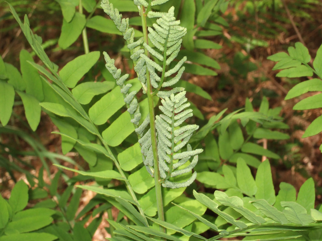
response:
<svg viewBox="0 0 322 241"><path fill-rule="evenodd" d="M184 183L176 183L169 181L171 177L182 175L190 172L198 162L198 154L203 149L192 150L188 143L193 132L199 128L198 125L185 125L180 128L176 128L176 123L180 121L183 123L188 117L190 117L191 109L184 110L190 104L187 103L185 98L185 91L181 91L178 94L170 94L165 96L161 100L162 105L159 109L163 112L161 115L156 116L156 132L157 132L157 149L159 159L159 170L160 176L163 179L162 186L169 188L186 187L190 185L195 177L194 174ZM146 135L150 135L150 130L147 131ZM142 146L142 154L147 156L148 150L151 147L151 138L146 136L140 139ZM182 151L182 148L186 146L187 150ZM192 161L185 168L180 167L186 164L190 158ZM152 158L152 156L149 156ZM145 165L147 162L145 162ZM152 169L152 162L149 169Z"/></svg>

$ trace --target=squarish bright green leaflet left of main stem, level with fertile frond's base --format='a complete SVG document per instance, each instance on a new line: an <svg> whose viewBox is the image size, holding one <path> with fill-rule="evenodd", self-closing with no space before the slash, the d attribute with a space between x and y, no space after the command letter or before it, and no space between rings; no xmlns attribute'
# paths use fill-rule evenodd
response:
<svg viewBox="0 0 322 241"><path fill-rule="evenodd" d="M131 184L133 191L140 194L147 192L148 189L154 186L154 178L147 172L145 166L129 175L128 181Z"/></svg>

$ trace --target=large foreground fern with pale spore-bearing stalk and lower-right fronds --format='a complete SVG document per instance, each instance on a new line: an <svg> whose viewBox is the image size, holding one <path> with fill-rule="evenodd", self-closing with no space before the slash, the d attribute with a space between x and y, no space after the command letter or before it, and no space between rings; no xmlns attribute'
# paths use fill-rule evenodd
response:
<svg viewBox="0 0 322 241"><path fill-rule="evenodd" d="M28 18L25 17L22 23L9 4L34 52L47 67L45 69L30 62L30 67L41 73L46 86L41 106L58 123L65 151L72 148L79 150L90 170L59 167L80 174L80 180L94 179L95 184L78 187L99 193L101 199L98 203L108 204L103 204L102 210L110 210L112 205L120 210L118 222L109 219L113 235L109 240L112 241L148 241L159 237L169 240L218 240L236 236L247 236L245 240L249 240L253 235L257 236L256 239L265 240L266 236L266 240L283 240L305 237L307 230L317 237L320 234L321 214L312 208L312 180L308 181L300 195L309 197L309 204L299 196L298 200L302 201L294 204L293 193L285 200L276 201L268 161L259 165L255 181L245 160L239 158L236 174L234 168L226 165L223 175L218 174L217 178L226 185L221 186L225 192L216 191L215 196L194 192L195 199L183 194L196 176L195 172L190 173L202 150L191 145L193 132L198 127L185 123L192 116L192 111L186 109L189 104L184 89L167 89L180 79L184 71L182 65L185 58L181 58L174 67L171 61L180 50L185 28L175 20L174 8L167 12L155 11L157 7L165 6L158 4L166 2L135 1L141 15L143 38L136 36L136 31L129 27L129 20L123 19L109 1L102 2L102 8L127 41L137 72L137 78L127 80L129 76L121 75L121 69L105 53L106 67L116 80L117 87L94 82L90 75L78 84L97 62L98 52L75 58L57 73L56 66L40 45L41 38L30 30ZM152 20L156 18L150 28L147 27L149 17ZM147 98L139 101L136 94L141 88ZM155 115L154 107L159 98L161 114ZM126 106L126 112L122 111L123 106ZM220 129L227 129L234 114L223 118ZM271 121L263 113L240 114L239 119L244 124L250 120ZM212 128L213 123L210 123L204 131L208 133ZM202 136L203 132L200 133ZM163 189L162 185L165 186ZM280 196L284 197L284 194ZM214 210L224 221L205 214L207 208ZM294 218L297 215L301 218ZM214 223L215 219L218 219L217 223ZM218 235L210 239L200 235L210 228Z"/></svg>

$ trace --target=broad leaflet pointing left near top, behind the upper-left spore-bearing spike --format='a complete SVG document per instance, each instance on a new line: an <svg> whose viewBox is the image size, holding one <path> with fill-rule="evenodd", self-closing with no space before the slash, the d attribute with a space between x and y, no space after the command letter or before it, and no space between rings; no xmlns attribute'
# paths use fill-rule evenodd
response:
<svg viewBox="0 0 322 241"><path fill-rule="evenodd" d="M125 1L125 0L123 0L123 1ZM133 4L133 2L132 2L132 4ZM122 33L120 31L118 31L118 29L116 28L113 20L107 19L107 18L99 16L99 15L96 15L96 16L90 18L89 20L87 20L86 27L98 30L103 33L122 35ZM137 38L137 37L142 37L142 36L143 36L143 33L141 31L134 30L134 37Z"/></svg>

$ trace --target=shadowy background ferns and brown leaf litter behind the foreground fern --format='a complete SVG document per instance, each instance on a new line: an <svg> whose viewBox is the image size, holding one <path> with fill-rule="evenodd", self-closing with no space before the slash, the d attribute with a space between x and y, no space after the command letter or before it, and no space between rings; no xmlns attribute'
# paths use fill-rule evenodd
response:
<svg viewBox="0 0 322 241"><path fill-rule="evenodd" d="M115 3L116 7L122 7L120 4L117 6L118 1L111 2ZM234 163L237 157L248 155L247 164L251 166L255 174L261 161L268 157L276 193L278 193L280 182L292 184L298 192L305 180L312 177L317 194L314 206L318 209L322 202L322 165L319 150L322 144L321 136L318 134L307 138L301 137L309 124L321 115L321 110L293 111L296 103L312 93L289 100L285 100L285 97L294 85L306 78L303 76L275 77L278 73L275 69L280 68L275 67L274 69L275 63L271 60L279 61L279 59L269 60L267 58L280 51L286 51L289 46L296 46L296 42L301 42L306 46L309 54L314 57L322 42L322 20L319 17L322 13L322 4L318 0L219 1L207 19L198 19L196 14L195 19L191 18L192 20L189 21L192 8L188 4L191 2L195 6L194 11L198 12L208 1L170 1L167 4L167 6L176 6L177 16L183 24L186 24L185 27L188 30L188 37L184 39L183 50L180 53L181 56L188 57L188 62L186 73L182 77L183 81L178 83L178 86L185 86L190 92L187 97L193 103L194 111L194 119L191 121L198 123L200 127L205 127L203 132L193 137L194 141L202 141L205 147L204 155L200 156L199 164L195 167L195 170L202 175L197 176L197 181L187 189L186 193L192 196L192 189L205 193L213 192L214 188L225 189L225 187L218 187L218 183L209 181L213 179L207 176L207 174L211 175L210 173L214 170L218 171L222 163ZM66 21L71 14L64 10L74 8L76 13L73 14L81 14L78 1L74 3L74 1L44 0L10 1L10 3L20 19L23 19L24 14L28 15L32 31L41 36L45 52L49 59L58 65L59 70L69 61L84 54L84 51L88 51L86 47L84 49L86 44L84 45L82 37L83 27L80 27L79 34L74 34L77 35L75 39L71 40L69 36L63 34L62 28L64 24L65 27L67 26ZM106 16L98 6L99 4L95 1L83 1L82 5L82 11L87 20L84 24L86 23L87 26L89 50L107 51L111 57L116 59L115 63L118 67L134 77L135 72L131 62L128 61L129 54L124 48L123 38L117 35L119 33L113 28L106 30L99 24L103 20L98 17L106 18ZM139 30L140 24L134 17L137 16L135 12L137 9L135 5L133 6L134 8L124 9L126 12L124 16L130 17L131 24L137 26ZM2 2L0 8L0 54L6 63L6 69L11 70L8 71L10 76L7 77L14 81L15 78L19 78L20 74L17 73L19 70L22 78L24 78L24 71L25 75L33 74L28 73L27 67L24 68L23 64L20 64L22 58L28 60L33 58L35 63L40 63L40 61L24 38L7 4ZM185 17L188 20L185 20ZM75 26L72 29L75 30ZM68 31L70 29L67 29ZM189 34L194 38L189 38ZM27 51L21 51L22 49ZM28 52L31 53L30 56ZM313 59L309 59L310 65ZM14 67L17 68L16 71ZM84 82L101 81L102 79L109 81L111 77L101 57L95 68L90 70L90 75L85 76ZM114 85L110 84L106 88L112 89L113 87ZM10 193L14 193L14 185L18 185L16 189L20 188L21 192L29 194L27 199L26 197L23 199L28 201L29 198L27 207L60 210L59 214L56 213L58 217L51 218L52 212L46 209L47 217L43 220L43 223L48 222L48 224L53 219L57 220L60 226L52 231L57 237L63 235L63 230L73 227L73 238L76 240L78 236L81 237L84 234L83 226L85 225L89 238L93 236L93 240L103 240L113 231L113 227L105 219L113 217L118 221L123 217L116 208L111 208L113 201L106 202L103 195L95 196L94 192L89 190L74 189L75 183L77 185L88 184L86 180L90 179L73 172L61 172L52 165L61 164L78 170L88 170L89 160L93 158L92 154L82 149L81 145L71 149L72 147L68 146L70 144L68 139L51 133L62 131L64 128L68 129L68 125L64 126L59 119L53 116L49 118L45 112L41 112L39 125L37 121L33 123L33 118L28 119L27 112L24 113L26 109L23 106L25 105L24 94L19 91L18 89L16 92L14 108L8 125L0 128L1 195L8 199ZM28 90L27 87L26 93L32 95L33 91ZM34 97L41 98L37 94ZM97 101L99 98L94 98L94 100ZM39 99L39 101L42 100ZM272 126L269 123L263 123L255 132L242 127L239 121L230 121L227 122L228 132L218 131L214 135L209 134L211 130L217 128L213 125L217 121L214 120L216 118L213 117L214 115L219 118L218 113L223 114L221 111L226 108L227 112L224 116L244 107L246 111L270 113L277 120L283 119L286 124L279 122L278 126ZM116 117L112 116L111 119L114 120ZM271 132L276 130L279 132ZM77 132L79 136L83 135L84 140L94 140L81 128ZM238 133L242 140L237 139L231 149L224 148L229 135L235 136ZM266 151L263 152L260 149L258 152L250 152L249 149L254 146L250 146L247 150L244 143L248 141L256 144L256 148L260 146ZM116 151L120 153L134 142L133 136L132 140L130 136L127 143L116 147ZM218 144L219 151L217 152L215 148L212 148L214 143ZM235 156L232 157L232 153ZM263 153L265 155L261 155ZM98 166L92 170L97 171L100 168L104 167ZM132 167L125 168L132 170ZM222 174L223 170L219 169L219 173ZM20 179L29 183L29 191L21 181L15 184ZM96 181L100 183L99 180ZM110 185L117 186L118 183ZM147 186L135 191L145 193L149 188ZM102 202L104 204L101 204ZM117 204L114 204L117 207ZM19 208L16 211L23 210L26 205L26 202L18 205ZM151 210L151 212L156 212L156 210ZM201 226L197 228L202 230ZM205 235L210 236L211 233ZM66 237L60 238L66 239Z"/></svg>

